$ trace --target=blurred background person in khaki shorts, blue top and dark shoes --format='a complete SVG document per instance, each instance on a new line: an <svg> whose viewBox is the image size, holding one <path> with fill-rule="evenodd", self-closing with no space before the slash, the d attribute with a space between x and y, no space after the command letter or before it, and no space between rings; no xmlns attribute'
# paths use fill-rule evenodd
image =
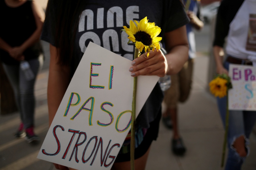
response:
<svg viewBox="0 0 256 170"><path fill-rule="evenodd" d="M193 28L200 30L204 26L204 23L199 19L200 0L183 0L183 4L185 5L187 16L190 19L190 22L186 25L189 42L189 59L178 74L171 76L171 87L165 91L164 96L164 102L167 109L162 118L164 125L167 128L173 128L172 151L176 155L183 155L186 152L186 148L178 130L177 104L178 102L185 102L189 97L191 90L193 62L196 55L195 34Z"/></svg>

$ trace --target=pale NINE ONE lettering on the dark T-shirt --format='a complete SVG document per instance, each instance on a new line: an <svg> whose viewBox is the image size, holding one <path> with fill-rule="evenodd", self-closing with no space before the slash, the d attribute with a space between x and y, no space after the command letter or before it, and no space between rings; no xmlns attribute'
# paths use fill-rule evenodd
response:
<svg viewBox="0 0 256 170"><path fill-rule="evenodd" d="M86 9L82 12L78 26L81 52L84 53L88 40L90 40L132 60L134 45L127 44L127 34L120 34L120 30L124 25L129 25L130 20L139 20L139 6L129 6L126 9L116 6L105 10L106 8L97 8L96 10Z"/></svg>

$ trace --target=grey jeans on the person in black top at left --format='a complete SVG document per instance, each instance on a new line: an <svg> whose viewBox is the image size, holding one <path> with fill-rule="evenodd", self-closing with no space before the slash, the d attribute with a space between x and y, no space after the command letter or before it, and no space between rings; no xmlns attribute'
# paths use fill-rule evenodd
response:
<svg viewBox="0 0 256 170"><path fill-rule="evenodd" d="M20 112L20 118L24 124L24 128L34 126L34 85L39 68L42 68L43 57L40 56L38 59L29 60L28 63L35 75L35 78L32 80L26 80L24 72L19 65L7 65L3 63L3 68L13 88L16 105Z"/></svg>

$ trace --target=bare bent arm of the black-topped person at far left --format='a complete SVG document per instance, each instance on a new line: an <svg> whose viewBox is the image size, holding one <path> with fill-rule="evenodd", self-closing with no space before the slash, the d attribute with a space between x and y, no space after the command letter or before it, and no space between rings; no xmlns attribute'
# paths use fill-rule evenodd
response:
<svg viewBox="0 0 256 170"><path fill-rule="evenodd" d="M43 9L36 4L34 1L32 1L32 12L36 21L36 30L34 33L25 41L21 46L14 47L10 50L9 54L12 57L17 57L22 55L22 53L30 46L32 46L35 42L40 40L40 35L42 31L42 27L44 24L44 11Z"/></svg>

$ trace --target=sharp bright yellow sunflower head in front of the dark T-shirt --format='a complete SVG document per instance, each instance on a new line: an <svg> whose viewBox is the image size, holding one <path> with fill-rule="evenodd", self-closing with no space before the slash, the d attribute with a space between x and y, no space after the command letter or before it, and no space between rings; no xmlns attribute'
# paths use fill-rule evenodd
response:
<svg viewBox="0 0 256 170"><path fill-rule="evenodd" d="M154 22L148 22L147 17L143 18L140 22L134 21L137 26L133 21L130 21L130 28L123 26L124 29L121 31L125 31L129 35L129 42L132 41L140 52L142 50L148 52L148 57L150 50L154 51L156 49L158 51L160 49L159 42L162 40L162 37L158 37L158 35L161 29Z"/></svg>

